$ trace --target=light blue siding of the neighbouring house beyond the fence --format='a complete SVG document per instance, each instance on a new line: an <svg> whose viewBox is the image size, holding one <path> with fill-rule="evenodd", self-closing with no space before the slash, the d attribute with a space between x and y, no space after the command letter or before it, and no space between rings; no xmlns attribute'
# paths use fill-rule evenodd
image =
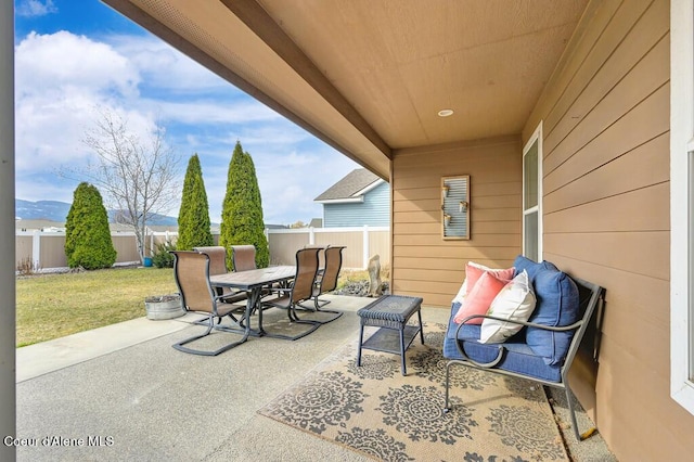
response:
<svg viewBox="0 0 694 462"><path fill-rule="evenodd" d="M387 227L390 224L390 185L382 182L364 194L364 202L323 204L323 227Z"/></svg>

